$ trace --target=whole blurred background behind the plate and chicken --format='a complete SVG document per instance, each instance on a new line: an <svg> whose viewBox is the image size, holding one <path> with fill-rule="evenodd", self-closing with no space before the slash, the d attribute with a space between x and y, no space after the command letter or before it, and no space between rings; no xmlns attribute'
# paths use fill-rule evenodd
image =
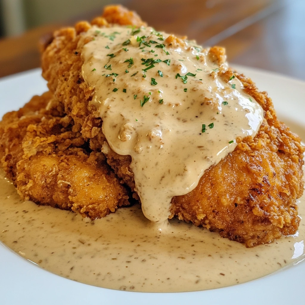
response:
<svg viewBox="0 0 305 305"><path fill-rule="evenodd" d="M157 30L226 47L231 63L305 79L305 0L0 0L0 77L38 67L39 40L112 3Z"/></svg>

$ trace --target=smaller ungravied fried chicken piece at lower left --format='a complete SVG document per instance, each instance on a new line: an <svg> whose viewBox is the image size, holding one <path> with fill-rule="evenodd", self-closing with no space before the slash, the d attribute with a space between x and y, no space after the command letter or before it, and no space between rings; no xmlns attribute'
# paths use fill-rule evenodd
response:
<svg viewBox="0 0 305 305"><path fill-rule="evenodd" d="M45 108L50 92L34 96L0 123L0 157L7 177L25 199L92 219L128 205L119 183L101 152L89 152L71 117Z"/></svg>

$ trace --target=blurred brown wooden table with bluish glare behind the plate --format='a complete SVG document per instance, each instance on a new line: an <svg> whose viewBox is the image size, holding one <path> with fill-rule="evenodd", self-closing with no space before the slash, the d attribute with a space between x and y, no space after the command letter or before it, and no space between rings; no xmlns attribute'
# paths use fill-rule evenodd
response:
<svg viewBox="0 0 305 305"><path fill-rule="evenodd" d="M126 0L124 5L157 30L226 47L230 63L305 79L304 0ZM0 77L38 67L39 39L98 14L87 13L66 24L41 26L0 40Z"/></svg>

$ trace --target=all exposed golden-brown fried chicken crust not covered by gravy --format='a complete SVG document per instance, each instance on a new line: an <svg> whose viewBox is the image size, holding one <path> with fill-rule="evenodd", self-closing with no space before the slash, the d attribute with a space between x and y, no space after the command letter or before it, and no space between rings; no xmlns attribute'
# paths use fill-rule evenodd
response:
<svg viewBox="0 0 305 305"><path fill-rule="evenodd" d="M91 24L80 22L55 32L42 54L49 92L6 114L0 125L2 167L21 196L91 218L127 205L128 189L139 200L131 157L107 145L97 109L89 105L94 88L81 74L82 47L93 39L81 39L83 33L92 24L111 23L145 24L121 6L108 6ZM209 52L223 61L223 48ZM254 138L238 139L237 148L206 170L192 192L172 199L170 218L218 231L247 247L294 234L300 222L297 198L303 193L300 138L278 121L266 92L235 71L221 73L225 81L239 78L264 109L263 124Z"/></svg>

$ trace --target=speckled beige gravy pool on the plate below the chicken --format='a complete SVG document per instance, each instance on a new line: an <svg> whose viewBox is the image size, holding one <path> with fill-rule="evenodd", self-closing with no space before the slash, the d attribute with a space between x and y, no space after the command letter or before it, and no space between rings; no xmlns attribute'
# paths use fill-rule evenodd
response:
<svg viewBox="0 0 305 305"><path fill-rule="evenodd" d="M0 240L63 277L104 288L181 292L260 278L305 258L305 224L294 236L246 248L177 219L160 228L139 205L90 221L20 200L1 173ZM299 213L305 215L301 198ZM26 278L25 278L26 280Z"/></svg>

